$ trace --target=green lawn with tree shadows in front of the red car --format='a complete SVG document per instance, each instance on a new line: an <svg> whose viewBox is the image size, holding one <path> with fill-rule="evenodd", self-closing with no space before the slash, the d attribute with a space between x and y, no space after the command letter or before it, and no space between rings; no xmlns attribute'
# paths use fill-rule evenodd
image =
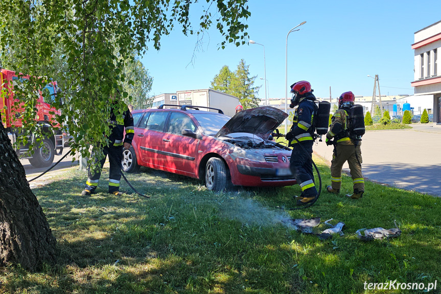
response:
<svg viewBox="0 0 441 294"><path fill-rule="evenodd" d="M315 160L326 187L329 167ZM37 273L3 268L0 292L364 293L364 281L441 280L438 198L367 182L365 196L351 200L344 194L352 180L343 176L342 195L322 193L313 207L285 212L274 207L293 207L298 186L216 194L198 180L142 168L128 178L151 196L144 199L107 194L107 178L91 197L79 195L86 173L76 170L34 190L58 262ZM343 221L345 235L300 234L280 222L288 215ZM354 234L393 228L394 220L399 238L363 242Z"/></svg>

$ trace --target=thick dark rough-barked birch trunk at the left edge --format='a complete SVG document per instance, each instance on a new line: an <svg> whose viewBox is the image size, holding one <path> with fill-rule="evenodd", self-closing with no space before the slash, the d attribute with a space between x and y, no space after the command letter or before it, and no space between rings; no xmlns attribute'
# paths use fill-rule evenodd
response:
<svg viewBox="0 0 441 294"><path fill-rule="evenodd" d="M34 271L55 258L55 237L0 122L0 265Z"/></svg>

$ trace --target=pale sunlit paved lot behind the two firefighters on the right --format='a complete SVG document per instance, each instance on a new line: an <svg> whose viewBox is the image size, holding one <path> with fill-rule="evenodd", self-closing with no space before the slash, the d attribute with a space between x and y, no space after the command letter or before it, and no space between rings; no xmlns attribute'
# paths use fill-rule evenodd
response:
<svg viewBox="0 0 441 294"><path fill-rule="evenodd" d="M332 146L314 152L332 160ZM414 124L411 130L367 131L361 145L363 176L405 190L441 196L441 128ZM347 163L343 169L349 171ZM324 185L330 185L324 179Z"/></svg>

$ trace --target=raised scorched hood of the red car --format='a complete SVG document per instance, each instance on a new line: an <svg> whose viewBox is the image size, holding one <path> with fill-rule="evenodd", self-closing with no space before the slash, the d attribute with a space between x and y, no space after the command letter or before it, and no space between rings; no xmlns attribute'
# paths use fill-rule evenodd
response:
<svg viewBox="0 0 441 294"><path fill-rule="evenodd" d="M215 137L244 132L258 135L266 140L287 117L288 115L284 111L271 106L246 109L232 117Z"/></svg>

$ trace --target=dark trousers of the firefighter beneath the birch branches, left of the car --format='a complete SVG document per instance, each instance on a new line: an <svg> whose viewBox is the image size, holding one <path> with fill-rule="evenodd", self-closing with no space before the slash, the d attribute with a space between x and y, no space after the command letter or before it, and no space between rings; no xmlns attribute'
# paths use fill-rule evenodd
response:
<svg viewBox="0 0 441 294"><path fill-rule="evenodd" d="M94 192L98 186L98 181L101 176L101 170L106 162L107 154L109 155L109 193L113 193L120 190L121 180L121 160L123 159L123 146L110 146L102 148L104 157L100 160L94 156L95 150L92 150L92 156L95 157L95 162L99 162L99 170L93 171L90 166L87 173L86 190Z"/></svg>

